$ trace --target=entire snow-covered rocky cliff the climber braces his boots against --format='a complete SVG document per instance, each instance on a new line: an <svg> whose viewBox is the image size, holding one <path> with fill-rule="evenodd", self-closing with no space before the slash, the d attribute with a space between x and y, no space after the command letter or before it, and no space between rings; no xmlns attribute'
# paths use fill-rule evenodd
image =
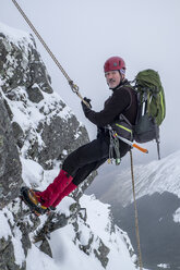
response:
<svg viewBox="0 0 180 270"><path fill-rule="evenodd" d="M44 189L85 127L53 93L32 35L0 24L0 269L135 270L125 232L108 205L83 189L95 173L40 218L17 198L22 184Z"/></svg>

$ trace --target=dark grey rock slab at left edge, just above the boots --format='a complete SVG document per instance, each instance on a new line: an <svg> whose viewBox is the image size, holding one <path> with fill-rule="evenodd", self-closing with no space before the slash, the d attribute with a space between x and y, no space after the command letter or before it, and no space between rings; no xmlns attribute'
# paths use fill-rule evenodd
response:
<svg viewBox="0 0 180 270"><path fill-rule="evenodd" d="M12 125L3 99L0 99L0 208L19 195L22 167Z"/></svg>

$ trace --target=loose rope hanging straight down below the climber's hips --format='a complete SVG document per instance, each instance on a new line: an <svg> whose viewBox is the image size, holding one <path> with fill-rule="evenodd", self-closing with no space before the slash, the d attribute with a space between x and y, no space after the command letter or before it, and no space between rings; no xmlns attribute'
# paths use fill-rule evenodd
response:
<svg viewBox="0 0 180 270"><path fill-rule="evenodd" d="M136 198L135 198L133 158L132 158L132 150L131 149L130 149L130 159L131 159L132 191L133 191L134 212L135 212L135 234L136 234L137 250L139 250L139 256L137 256L139 257L139 267L140 267L140 270L143 270L143 261L142 261L142 253L141 253L141 244L140 244L139 214L137 214Z"/></svg>

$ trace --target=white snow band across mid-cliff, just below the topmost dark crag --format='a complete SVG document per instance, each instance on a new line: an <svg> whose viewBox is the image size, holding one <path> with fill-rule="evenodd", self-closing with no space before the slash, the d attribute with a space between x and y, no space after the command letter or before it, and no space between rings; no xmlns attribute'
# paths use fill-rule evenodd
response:
<svg viewBox="0 0 180 270"><path fill-rule="evenodd" d="M33 103L29 101L24 87L16 87L13 91L17 100L7 99L4 94L2 95L12 110L13 121L19 123L26 134L27 139L21 149L22 157L26 157L29 140L38 140L39 151L45 146L40 134L37 132L39 122L50 124L51 118L55 115L68 121L73 113L68 106L62 107L62 99L56 93L51 95L44 93L44 99L39 103ZM44 112L40 112L41 109Z"/></svg>

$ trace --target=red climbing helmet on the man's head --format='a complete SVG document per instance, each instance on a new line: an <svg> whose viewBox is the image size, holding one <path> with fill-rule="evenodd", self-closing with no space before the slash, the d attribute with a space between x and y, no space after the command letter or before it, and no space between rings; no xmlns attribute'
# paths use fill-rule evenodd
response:
<svg viewBox="0 0 180 270"><path fill-rule="evenodd" d="M104 65L105 73L109 71L121 71L121 70L123 70L123 73L125 72L125 62L123 61L122 58L112 57L105 62Z"/></svg>

